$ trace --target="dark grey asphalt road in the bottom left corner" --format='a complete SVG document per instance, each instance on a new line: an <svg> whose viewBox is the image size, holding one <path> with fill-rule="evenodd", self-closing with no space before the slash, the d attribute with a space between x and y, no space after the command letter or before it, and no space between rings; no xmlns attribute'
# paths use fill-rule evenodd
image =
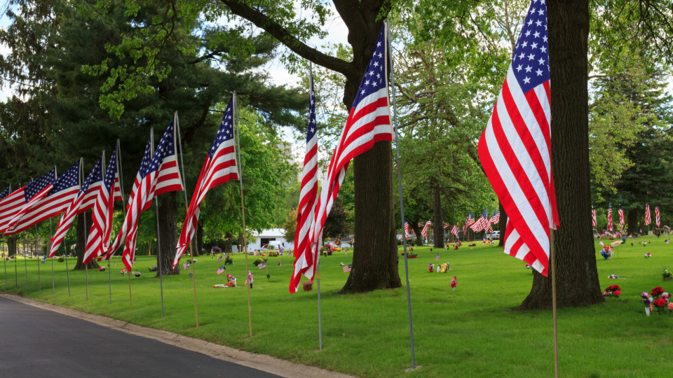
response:
<svg viewBox="0 0 673 378"><path fill-rule="evenodd" d="M0 378L280 378L0 297Z"/></svg>

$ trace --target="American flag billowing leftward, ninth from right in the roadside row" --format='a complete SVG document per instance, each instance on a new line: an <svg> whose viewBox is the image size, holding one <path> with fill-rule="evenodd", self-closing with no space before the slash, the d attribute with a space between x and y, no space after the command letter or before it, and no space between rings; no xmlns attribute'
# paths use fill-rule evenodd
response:
<svg viewBox="0 0 673 378"><path fill-rule="evenodd" d="M35 195L11 221L13 226L6 230L6 234L11 235L27 230L37 223L45 221L53 216L57 216L67 209L70 202L72 202L79 192L79 165L80 162L76 162L56 181L50 183L46 188L41 190L41 192L44 193L44 191L48 189L46 195L41 197L41 199L38 199L39 194ZM54 169L54 174L55 173L56 170ZM26 193L32 193L32 190L32 183L29 183L26 186ZM20 214L23 214L21 218L19 218Z"/></svg>

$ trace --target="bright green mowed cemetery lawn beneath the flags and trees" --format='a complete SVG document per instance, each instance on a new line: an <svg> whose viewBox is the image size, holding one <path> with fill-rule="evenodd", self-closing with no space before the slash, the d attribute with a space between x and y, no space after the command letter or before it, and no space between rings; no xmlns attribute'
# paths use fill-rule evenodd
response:
<svg viewBox="0 0 673 378"><path fill-rule="evenodd" d="M664 267L673 269L673 244L660 239L651 244L619 247L612 260L597 252L599 278L605 288L618 283L622 297L579 309L559 309L559 360L564 377L665 377L673 370L673 317L656 312L646 317L640 293L655 286L673 292L663 282ZM597 251L598 248L597 248ZM532 274L524 262L504 255L496 246L463 246L439 251L440 262L450 262L447 274L428 272L437 250L416 248L419 258L409 260L416 364L421 370L405 373L411 365L405 288L360 295L335 294L346 281L341 262L351 252L322 258L323 349L318 350L317 290L290 294L287 285L292 258L282 266L269 258L266 270L252 265L253 337L248 336L245 256L233 256L226 272L238 278L238 288L212 288L225 283L210 256L197 258L196 286L199 328L196 328L193 291L188 274L163 279L165 318L161 318L159 280L148 267L154 258L138 257L140 278L131 277L133 309L129 310L128 279L119 274L121 260L113 259L112 304L108 272L88 273L88 301L84 272L70 272L68 297L65 264L55 262L56 293L52 294L51 265L40 265L42 291L38 291L37 261L25 267L18 260L18 288L14 263L6 265L5 284L0 266L0 287L34 300L58 304L152 328L170 330L210 342L264 353L307 365L325 367L358 377L550 377L553 375L551 311L517 311L531 288ZM652 258L644 258L644 253ZM562 253L562 251L560 252ZM184 260L184 259L183 259ZM70 267L74 260L70 260ZM183 261L184 262L184 261ZM404 261L400 276L404 282ZM620 279L608 279L617 274ZM451 292L451 277L458 287ZM185 361L187 363L187 361Z"/></svg>

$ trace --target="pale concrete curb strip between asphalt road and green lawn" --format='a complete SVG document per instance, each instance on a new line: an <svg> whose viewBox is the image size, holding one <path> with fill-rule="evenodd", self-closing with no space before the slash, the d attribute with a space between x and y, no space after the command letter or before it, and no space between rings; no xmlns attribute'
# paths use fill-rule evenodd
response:
<svg viewBox="0 0 673 378"><path fill-rule="evenodd" d="M22 302L33 307L46 309L57 312L74 318L80 318L85 321L90 321L103 327L120 330L122 332L130 333L131 335L147 337L155 339L165 344L177 346L189 351L205 354L218 360L224 360L230 363L236 363L247 367L252 367L263 372L279 375L285 378L356 378L354 375L343 374L340 372L333 372L331 370L320 369L320 367L301 365L293 363L280 358L267 356L266 354L250 353L248 351L241 351L229 346L207 342L202 339L196 339L184 335L179 335L175 332L168 332L165 330L156 330L154 328L142 327L140 325L119 321L106 316L95 314L88 314L83 311L75 309L68 309L65 307L56 306L31 300L25 297L11 294L0 294L1 297L6 297L17 302Z"/></svg>

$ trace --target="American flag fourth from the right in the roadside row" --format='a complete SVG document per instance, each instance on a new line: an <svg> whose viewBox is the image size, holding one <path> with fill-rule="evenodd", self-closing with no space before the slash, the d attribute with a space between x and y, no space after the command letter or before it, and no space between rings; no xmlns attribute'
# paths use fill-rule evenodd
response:
<svg viewBox="0 0 673 378"><path fill-rule="evenodd" d="M191 204L184 218L180 239L177 242L177 252L173 260L173 268L180 262L180 258L189 246L191 238L198 227L198 214L201 201L205 198L208 190L215 188L229 180L238 180L238 168L236 167L236 148L233 131L234 104L236 95L231 96L229 104L224 110L222 122L215 136L215 141L210 146L210 151L203 162L201 173L198 176L196 190L191 197Z"/></svg>

